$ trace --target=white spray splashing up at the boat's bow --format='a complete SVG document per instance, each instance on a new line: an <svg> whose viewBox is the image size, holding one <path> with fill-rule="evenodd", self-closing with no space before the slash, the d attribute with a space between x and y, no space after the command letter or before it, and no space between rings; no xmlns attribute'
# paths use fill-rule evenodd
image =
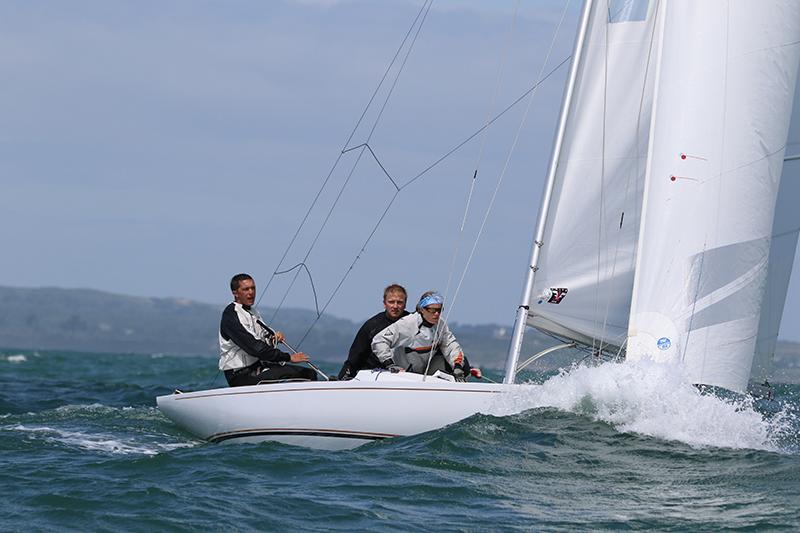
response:
<svg viewBox="0 0 800 533"><path fill-rule="evenodd" d="M504 416L534 408L580 414L621 432L694 448L785 452L798 422L785 406L765 416L749 397L703 393L686 381L680 367L653 361L574 367L541 385L516 387L498 399L490 414Z"/></svg>

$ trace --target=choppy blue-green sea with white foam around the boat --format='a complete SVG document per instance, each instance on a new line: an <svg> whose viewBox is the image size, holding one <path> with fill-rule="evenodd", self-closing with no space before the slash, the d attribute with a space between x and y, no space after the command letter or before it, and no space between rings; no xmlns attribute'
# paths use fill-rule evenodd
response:
<svg viewBox="0 0 800 533"><path fill-rule="evenodd" d="M176 427L156 396L223 386L214 358L0 351L0 529L800 529L800 386L679 374L532 372L492 413L332 452Z"/></svg>

